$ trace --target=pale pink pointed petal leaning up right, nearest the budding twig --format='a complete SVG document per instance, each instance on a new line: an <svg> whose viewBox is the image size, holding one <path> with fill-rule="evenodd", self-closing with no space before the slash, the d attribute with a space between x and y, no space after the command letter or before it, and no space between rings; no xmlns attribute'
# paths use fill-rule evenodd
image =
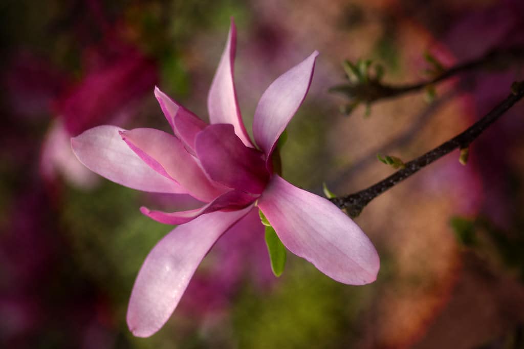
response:
<svg viewBox="0 0 524 349"><path fill-rule="evenodd" d="M314 51L311 56L283 73L270 84L258 102L253 120L253 136L260 149L267 154L267 163L271 161L271 152L280 134L308 93L318 55L319 52Z"/></svg>

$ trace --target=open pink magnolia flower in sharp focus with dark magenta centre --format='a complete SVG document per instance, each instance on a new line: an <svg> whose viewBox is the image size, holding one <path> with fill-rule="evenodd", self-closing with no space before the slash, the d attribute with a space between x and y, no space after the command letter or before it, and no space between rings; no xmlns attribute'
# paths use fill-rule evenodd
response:
<svg viewBox="0 0 524 349"><path fill-rule="evenodd" d="M347 284L376 279L379 258L364 232L329 200L272 170L271 154L308 92L318 52L280 76L260 98L255 147L236 100L235 46L232 22L209 92L210 125L157 88L155 96L174 136L105 125L71 140L79 160L111 181L142 191L189 193L205 203L173 213L141 208L152 219L180 226L158 242L138 273L127 312L136 336L150 336L165 324L215 241L257 209L291 252L329 277ZM260 227L256 222L253 229Z"/></svg>

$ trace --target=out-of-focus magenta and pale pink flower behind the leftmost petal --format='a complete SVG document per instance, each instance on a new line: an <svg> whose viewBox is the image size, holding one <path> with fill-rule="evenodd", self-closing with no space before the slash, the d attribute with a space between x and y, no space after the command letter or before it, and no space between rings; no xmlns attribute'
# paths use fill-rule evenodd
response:
<svg viewBox="0 0 524 349"><path fill-rule="evenodd" d="M105 123L124 123L133 113L137 100L156 80L154 62L134 49L125 49L58 98L53 108L57 120L42 145L42 177L53 182L60 173L72 184L92 187L98 178L71 152L71 136Z"/></svg>

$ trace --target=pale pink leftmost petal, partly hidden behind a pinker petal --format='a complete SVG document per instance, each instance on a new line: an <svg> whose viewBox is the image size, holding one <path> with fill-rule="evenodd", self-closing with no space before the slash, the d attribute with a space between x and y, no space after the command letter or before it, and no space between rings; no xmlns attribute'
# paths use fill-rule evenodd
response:
<svg viewBox="0 0 524 349"><path fill-rule="evenodd" d="M145 192L187 193L178 183L152 170L122 140L116 126L103 125L71 139L78 160L110 181Z"/></svg>

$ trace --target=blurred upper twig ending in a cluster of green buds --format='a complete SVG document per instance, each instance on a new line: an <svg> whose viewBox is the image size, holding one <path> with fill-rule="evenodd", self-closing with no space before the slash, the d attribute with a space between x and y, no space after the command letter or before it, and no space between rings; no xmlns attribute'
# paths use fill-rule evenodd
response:
<svg viewBox="0 0 524 349"><path fill-rule="evenodd" d="M395 98L402 94L420 91L425 87L434 86L436 83L465 71L474 70L479 67L503 67L511 62L521 62L522 58L524 58L524 47L522 46L499 48L488 51L482 57L453 66L428 81L403 85L389 85L377 79L369 79L366 83L341 84L330 90L343 93L351 100L371 104L381 99Z"/></svg>

